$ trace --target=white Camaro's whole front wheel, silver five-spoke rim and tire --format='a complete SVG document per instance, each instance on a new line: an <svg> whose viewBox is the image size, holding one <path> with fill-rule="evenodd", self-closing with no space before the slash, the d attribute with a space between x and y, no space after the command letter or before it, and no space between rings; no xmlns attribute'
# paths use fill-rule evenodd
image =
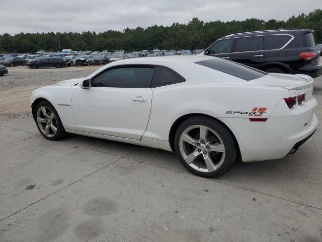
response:
<svg viewBox="0 0 322 242"><path fill-rule="evenodd" d="M55 108L48 101L41 101L35 108L35 121L39 132L48 140L59 140L66 134Z"/></svg>

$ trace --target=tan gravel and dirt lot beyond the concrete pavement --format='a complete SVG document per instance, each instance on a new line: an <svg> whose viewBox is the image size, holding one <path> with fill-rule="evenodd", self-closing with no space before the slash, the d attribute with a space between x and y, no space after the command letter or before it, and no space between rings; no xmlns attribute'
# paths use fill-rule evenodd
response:
<svg viewBox="0 0 322 242"><path fill-rule="evenodd" d="M59 81L85 77L102 66L29 69L9 67L9 74L0 77L0 121L31 112L29 97L36 88ZM314 95L322 95L322 77L316 78Z"/></svg>

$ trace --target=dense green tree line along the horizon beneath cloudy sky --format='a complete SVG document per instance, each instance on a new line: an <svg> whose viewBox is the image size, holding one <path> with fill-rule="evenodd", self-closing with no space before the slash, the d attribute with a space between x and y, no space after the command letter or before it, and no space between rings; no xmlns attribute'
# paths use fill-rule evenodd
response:
<svg viewBox="0 0 322 242"><path fill-rule="evenodd" d="M193 18L187 24L150 26L145 29L126 28L122 32L107 30L102 33L20 33L0 35L0 53L34 53L37 50L117 50L135 51L158 47L160 49L205 48L216 39L232 33L270 29L314 29L316 43L322 43L322 10L292 16L287 21L246 19L244 21L203 22Z"/></svg>

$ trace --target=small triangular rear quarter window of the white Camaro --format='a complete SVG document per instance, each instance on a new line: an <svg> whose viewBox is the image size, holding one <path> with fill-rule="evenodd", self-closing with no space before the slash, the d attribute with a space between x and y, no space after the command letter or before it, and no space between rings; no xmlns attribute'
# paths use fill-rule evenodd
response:
<svg viewBox="0 0 322 242"><path fill-rule="evenodd" d="M175 83L185 82L186 80L179 74L164 67L156 67L152 80L152 87L160 87Z"/></svg>

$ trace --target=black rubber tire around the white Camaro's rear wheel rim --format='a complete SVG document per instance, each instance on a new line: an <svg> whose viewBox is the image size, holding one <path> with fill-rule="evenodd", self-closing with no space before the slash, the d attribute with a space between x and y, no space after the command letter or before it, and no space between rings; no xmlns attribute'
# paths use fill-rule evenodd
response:
<svg viewBox="0 0 322 242"><path fill-rule="evenodd" d="M215 131L217 135L219 135L220 139L223 142L224 148L225 148L225 156L223 163L219 168L212 172L202 172L199 170L194 169L191 167L183 158L181 151L180 151L180 137L182 133L188 129L191 126L206 126L207 128L210 128L211 130ZM183 122L180 127L178 128L175 136L175 151L177 156L179 157L181 163L192 173L196 175L200 175L203 177L208 178L214 178L223 175L229 168L232 166L232 164L235 162L236 157L238 155L238 148L237 144L235 142L235 139L231 132L218 120L206 117L206 116L195 116L187 119L185 122ZM200 168L200 167L199 167Z"/></svg>

